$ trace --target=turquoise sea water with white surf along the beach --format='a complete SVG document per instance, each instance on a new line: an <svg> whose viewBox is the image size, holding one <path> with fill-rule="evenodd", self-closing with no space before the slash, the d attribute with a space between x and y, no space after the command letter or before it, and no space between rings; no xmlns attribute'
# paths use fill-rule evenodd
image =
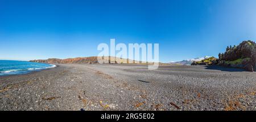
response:
<svg viewBox="0 0 256 122"><path fill-rule="evenodd" d="M53 64L25 62L16 60L0 60L0 76L19 75L31 71L40 71L42 69L56 67Z"/></svg>

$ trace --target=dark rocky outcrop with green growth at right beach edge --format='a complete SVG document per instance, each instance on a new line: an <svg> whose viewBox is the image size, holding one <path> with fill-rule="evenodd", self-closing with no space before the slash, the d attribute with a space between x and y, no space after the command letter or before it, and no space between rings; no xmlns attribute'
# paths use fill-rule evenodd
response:
<svg viewBox="0 0 256 122"><path fill-rule="evenodd" d="M253 41L243 41L238 46L227 47L225 53L218 56L218 64L221 66L256 71L256 44Z"/></svg>

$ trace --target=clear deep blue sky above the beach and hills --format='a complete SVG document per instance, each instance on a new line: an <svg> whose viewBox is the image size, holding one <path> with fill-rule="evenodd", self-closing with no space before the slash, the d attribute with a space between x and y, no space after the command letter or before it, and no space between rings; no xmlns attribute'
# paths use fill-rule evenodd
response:
<svg viewBox="0 0 256 122"><path fill-rule="evenodd" d="M255 0L0 0L0 59L96 56L100 43L159 43L161 62L256 40Z"/></svg>

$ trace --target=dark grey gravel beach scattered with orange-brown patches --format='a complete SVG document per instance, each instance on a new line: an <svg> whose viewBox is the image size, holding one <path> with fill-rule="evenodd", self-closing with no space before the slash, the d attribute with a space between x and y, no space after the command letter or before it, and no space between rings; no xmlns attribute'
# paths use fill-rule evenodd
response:
<svg viewBox="0 0 256 122"><path fill-rule="evenodd" d="M0 77L0 110L256 110L256 73L217 66L57 64Z"/></svg>

